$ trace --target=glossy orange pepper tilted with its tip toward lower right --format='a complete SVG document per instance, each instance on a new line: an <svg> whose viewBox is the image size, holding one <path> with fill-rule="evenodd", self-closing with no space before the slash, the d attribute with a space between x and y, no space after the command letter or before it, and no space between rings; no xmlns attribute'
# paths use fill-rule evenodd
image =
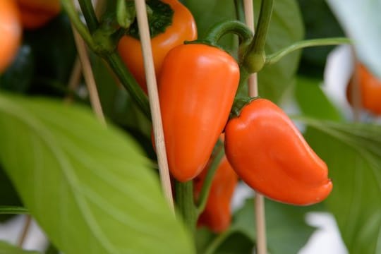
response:
<svg viewBox="0 0 381 254"><path fill-rule="evenodd" d="M332 190L325 162L267 99L253 100L227 123L225 151L238 176L272 200L312 205Z"/></svg>

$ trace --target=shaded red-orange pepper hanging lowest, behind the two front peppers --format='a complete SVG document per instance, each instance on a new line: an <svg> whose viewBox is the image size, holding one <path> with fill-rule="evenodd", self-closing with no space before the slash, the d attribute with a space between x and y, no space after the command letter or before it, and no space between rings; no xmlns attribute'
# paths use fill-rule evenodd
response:
<svg viewBox="0 0 381 254"><path fill-rule="evenodd" d="M193 181L195 198L198 198L200 194L207 170L205 168ZM205 210L198 218L199 226L207 226L214 233L221 233L229 228L231 222L231 198L237 183L238 176L224 156L214 174Z"/></svg>

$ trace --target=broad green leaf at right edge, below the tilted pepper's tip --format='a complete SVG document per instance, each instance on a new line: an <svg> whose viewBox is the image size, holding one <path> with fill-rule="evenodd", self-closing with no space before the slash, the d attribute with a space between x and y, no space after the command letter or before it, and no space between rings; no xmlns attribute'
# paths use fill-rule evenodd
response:
<svg viewBox="0 0 381 254"><path fill-rule="evenodd" d="M381 126L301 120L328 165L334 188L327 207L349 253L381 253Z"/></svg>

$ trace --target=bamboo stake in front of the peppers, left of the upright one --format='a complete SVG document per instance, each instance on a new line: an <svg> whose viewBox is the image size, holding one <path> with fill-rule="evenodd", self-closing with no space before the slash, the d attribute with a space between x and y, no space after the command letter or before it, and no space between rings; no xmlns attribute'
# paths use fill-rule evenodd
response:
<svg viewBox="0 0 381 254"><path fill-rule="evenodd" d="M142 44L145 78L147 80L148 98L150 99L150 109L152 115L153 131L155 135L155 145L157 160L159 163L159 172L162 182L164 195L174 211L174 201L171 191L171 179L167 162L167 153L164 143L164 132L162 126L162 115L160 113L159 95L157 91L157 82L155 67L152 58L152 48L150 39L150 30L148 28L147 12L144 0L135 0L136 17L138 18L138 28L140 32L140 42Z"/></svg>

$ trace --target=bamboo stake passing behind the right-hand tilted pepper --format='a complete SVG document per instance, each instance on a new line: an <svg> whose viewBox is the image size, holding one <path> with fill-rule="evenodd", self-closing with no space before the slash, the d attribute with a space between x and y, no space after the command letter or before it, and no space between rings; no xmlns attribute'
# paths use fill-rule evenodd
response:
<svg viewBox="0 0 381 254"><path fill-rule="evenodd" d="M245 9L246 25L255 32L254 28L254 7L253 0L244 0L243 6ZM258 77L257 73L250 75L248 80L249 96L258 96ZM260 193L255 193L255 226L257 231L257 253L267 253L267 239L266 239L266 221L265 221L265 198Z"/></svg>

